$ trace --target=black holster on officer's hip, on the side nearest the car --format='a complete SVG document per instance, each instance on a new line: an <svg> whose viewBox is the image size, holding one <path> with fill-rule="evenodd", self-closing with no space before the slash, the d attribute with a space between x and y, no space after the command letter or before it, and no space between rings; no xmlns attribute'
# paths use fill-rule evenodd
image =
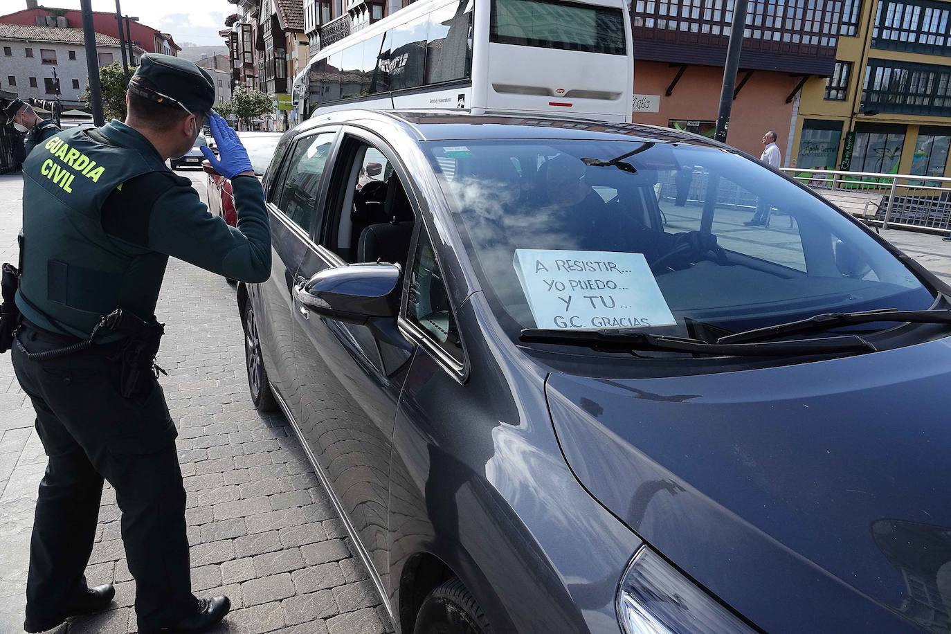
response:
<svg viewBox="0 0 951 634"><path fill-rule="evenodd" d="M165 370L155 364L159 345L165 335L165 324L155 317L144 321L121 308L102 317L96 330L106 329L124 338L119 342L116 360L121 364L119 391L126 398L142 398L151 387L150 378L158 378ZM95 338L95 332L91 338Z"/></svg>

